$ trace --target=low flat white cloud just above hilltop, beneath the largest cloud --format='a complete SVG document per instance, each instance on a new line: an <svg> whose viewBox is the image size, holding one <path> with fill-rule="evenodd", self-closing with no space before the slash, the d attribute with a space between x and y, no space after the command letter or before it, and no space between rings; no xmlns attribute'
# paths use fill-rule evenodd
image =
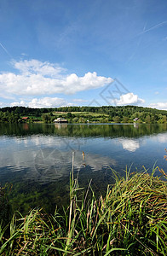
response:
<svg viewBox="0 0 167 256"><path fill-rule="evenodd" d="M64 100L63 98L43 97L40 99L33 98L31 102L12 102L10 106L25 106L29 108L55 108L61 106L72 106L72 103L66 102L66 100Z"/></svg>

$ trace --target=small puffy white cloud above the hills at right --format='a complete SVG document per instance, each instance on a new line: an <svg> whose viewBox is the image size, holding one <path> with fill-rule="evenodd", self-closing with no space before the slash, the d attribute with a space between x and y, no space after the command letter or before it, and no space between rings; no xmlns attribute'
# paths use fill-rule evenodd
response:
<svg viewBox="0 0 167 256"><path fill-rule="evenodd" d="M139 96L133 94L133 92L129 92L127 94L121 95L120 99L115 99L114 100L115 104L117 106L123 106L123 105L138 105L141 103L144 103L145 101Z"/></svg>

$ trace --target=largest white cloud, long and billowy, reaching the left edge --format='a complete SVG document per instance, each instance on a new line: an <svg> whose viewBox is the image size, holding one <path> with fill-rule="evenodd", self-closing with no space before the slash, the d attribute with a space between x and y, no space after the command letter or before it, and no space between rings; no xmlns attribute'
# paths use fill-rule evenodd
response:
<svg viewBox="0 0 167 256"><path fill-rule="evenodd" d="M112 82L111 78L97 76L95 72L85 73L83 77L75 73L65 75L66 69L49 62L31 60L13 61L12 64L19 73L0 74L0 89L5 95L68 95L100 88Z"/></svg>

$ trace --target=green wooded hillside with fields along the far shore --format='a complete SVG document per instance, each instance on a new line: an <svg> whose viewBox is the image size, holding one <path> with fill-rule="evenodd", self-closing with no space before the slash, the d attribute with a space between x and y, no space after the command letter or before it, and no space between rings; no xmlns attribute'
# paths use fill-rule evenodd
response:
<svg viewBox="0 0 167 256"><path fill-rule="evenodd" d="M52 123L65 118L69 123L166 123L167 111L137 106L61 107L61 108L0 108L0 122Z"/></svg>

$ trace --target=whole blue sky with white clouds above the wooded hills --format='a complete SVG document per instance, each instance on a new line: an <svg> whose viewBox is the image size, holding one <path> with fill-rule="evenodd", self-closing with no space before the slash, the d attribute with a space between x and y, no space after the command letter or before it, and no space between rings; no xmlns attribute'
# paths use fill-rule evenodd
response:
<svg viewBox="0 0 167 256"><path fill-rule="evenodd" d="M167 109L166 95L166 0L0 1L1 108Z"/></svg>

